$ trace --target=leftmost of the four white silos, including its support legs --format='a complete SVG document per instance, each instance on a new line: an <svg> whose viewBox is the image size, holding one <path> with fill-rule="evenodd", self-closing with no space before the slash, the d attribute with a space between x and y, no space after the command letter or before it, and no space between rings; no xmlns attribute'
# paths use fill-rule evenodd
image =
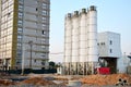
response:
<svg viewBox="0 0 131 87"><path fill-rule="evenodd" d="M70 65L72 62L72 20L71 13L66 15L66 23L64 23L64 73L70 74Z"/></svg>

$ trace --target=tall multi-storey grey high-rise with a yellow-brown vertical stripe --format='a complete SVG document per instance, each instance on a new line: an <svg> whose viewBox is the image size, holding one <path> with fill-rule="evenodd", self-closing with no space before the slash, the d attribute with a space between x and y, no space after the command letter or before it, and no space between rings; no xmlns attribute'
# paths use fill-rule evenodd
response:
<svg viewBox="0 0 131 87"><path fill-rule="evenodd" d="M0 66L45 69L50 0L0 0Z"/></svg>

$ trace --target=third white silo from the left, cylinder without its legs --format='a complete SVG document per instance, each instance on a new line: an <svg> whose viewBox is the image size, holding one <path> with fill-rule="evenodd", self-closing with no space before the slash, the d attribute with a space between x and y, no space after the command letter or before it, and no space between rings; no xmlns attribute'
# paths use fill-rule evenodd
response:
<svg viewBox="0 0 131 87"><path fill-rule="evenodd" d="M80 15L80 62L83 63L86 61L86 38L87 38L87 28L86 28L86 9L82 9Z"/></svg>

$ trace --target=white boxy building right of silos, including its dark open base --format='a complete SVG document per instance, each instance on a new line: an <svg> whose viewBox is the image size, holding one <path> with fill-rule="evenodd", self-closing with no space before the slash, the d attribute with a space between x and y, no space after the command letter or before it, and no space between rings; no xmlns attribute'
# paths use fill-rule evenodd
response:
<svg viewBox="0 0 131 87"><path fill-rule="evenodd" d="M98 54L99 59L107 62L111 73L117 73L120 69L119 61L122 60L120 34L112 32L98 33Z"/></svg>

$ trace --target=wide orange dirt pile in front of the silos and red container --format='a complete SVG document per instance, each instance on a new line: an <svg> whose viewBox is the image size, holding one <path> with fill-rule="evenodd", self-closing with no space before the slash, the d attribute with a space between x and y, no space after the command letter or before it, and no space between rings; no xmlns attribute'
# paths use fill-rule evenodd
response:
<svg viewBox="0 0 131 87"><path fill-rule="evenodd" d="M110 74L110 75L88 75L80 80L83 84L87 85L116 85L119 79L127 80L127 83L131 86L131 76L127 74Z"/></svg>

